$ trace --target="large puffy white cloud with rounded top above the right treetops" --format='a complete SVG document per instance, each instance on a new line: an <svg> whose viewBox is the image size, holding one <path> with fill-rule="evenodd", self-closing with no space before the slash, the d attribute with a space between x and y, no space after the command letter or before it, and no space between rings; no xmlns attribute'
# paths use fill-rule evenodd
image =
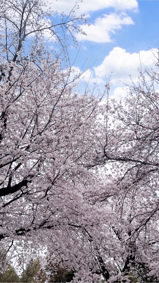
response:
<svg viewBox="0 0 159 283"><path fill-rule="evenodd" d="M101 65L94 68L95 75L100 79L108 78L111 73L111 82L114 86L121 87L123 83L130 83L130 77L134 82L138 80L137 69L142 66L151 69L154 68L154 52L157 49L140 51L139 53L129 53L125 49L115 47L105 57Z"/></svg>

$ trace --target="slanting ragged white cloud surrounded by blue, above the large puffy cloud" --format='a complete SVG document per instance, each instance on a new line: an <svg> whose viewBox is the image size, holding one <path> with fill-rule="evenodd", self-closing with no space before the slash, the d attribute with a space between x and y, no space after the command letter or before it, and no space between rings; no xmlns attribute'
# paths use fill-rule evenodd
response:
<svg viewBox="0 0 159 283"><path fill-rule="evenodd" d="M111 33L115 30L121 29L122 25L134 24L131 17L125 12L120 14L111 13L103 17L96 18L95 23L88 25L81 25L87 36L77 34L78 40L89 40L93 42L111 42Z"/></svg>

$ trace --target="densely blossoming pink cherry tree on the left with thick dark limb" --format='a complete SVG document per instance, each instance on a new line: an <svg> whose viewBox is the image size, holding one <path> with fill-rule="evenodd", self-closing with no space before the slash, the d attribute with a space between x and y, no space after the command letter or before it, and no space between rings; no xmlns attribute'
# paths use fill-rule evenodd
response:
<svg viewBox="0 0 159 283"><path fill-rule="evenodd" d="M83 33L76 27L83 16L75 17L72 10L61 15L61 22L49 24L51 12L44 12L42 4L1 5L0 240L2 249L15 248L19 259L26 243L47 246L68 268L76 259L76 277L91 281L103 272L100 245L95 237L92 248L91 235L103 226L98 195L107 194L100 184L102 173L92 168L103 154L103 95L96 86L79 95L68 56L62 57L68 54L65 29L73 39L74 30ZM54 46L57 39L61 53L48 51L50 37Z"/></svg>

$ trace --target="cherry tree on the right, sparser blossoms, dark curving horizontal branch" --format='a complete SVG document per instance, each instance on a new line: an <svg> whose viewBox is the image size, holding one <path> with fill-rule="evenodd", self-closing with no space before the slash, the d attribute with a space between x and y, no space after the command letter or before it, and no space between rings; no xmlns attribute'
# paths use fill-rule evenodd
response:
<svg viewBox="0 0 159 283"><path fill-rule="evenodd" d="M111 230L118 244L112 244L111 257L120 275L134 274L139 282L159 280L158 53L154 56L156 71L139 69L138 83L127 87L126 98L111 102L103 143L103 159L116 184Z"/></svg>

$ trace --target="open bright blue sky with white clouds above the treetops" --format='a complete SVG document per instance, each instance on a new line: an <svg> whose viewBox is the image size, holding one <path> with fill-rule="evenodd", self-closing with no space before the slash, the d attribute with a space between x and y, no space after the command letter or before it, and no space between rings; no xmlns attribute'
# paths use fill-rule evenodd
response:
<svg viewBox="0 0 159 283"><path fill-rule="evenodd" d="M68 13L74 0L53 1L52 8ZM87 81L98 83L101 89L112 73L112 93L114 97L123 95L124 83L129 83L129 75L137 81L137 68L141 63L153 68L153 53L159 44L159 2L157 0L83 0L79 1L77 14L85 14L90 26L83 25L87 36L77 35L81 48L74 68L80 70L89 56L85 67L94 65L85 74ZM70 48L73 60L77 50ZM140 53L140 59L139 59ZM122 82L121 82L122 81Z"/></svg>

